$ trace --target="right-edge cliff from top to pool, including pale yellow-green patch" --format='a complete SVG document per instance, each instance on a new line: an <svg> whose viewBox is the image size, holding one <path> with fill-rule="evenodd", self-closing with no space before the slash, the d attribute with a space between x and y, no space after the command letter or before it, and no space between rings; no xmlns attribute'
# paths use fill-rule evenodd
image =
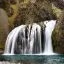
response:
<svg viewBox="0 0 64 64"><path fill-rule="evenodd" d="M51 0L54 4L54 14L57 16L57 24L52 35L54 52L64 54L64 1Z"/></svg>

